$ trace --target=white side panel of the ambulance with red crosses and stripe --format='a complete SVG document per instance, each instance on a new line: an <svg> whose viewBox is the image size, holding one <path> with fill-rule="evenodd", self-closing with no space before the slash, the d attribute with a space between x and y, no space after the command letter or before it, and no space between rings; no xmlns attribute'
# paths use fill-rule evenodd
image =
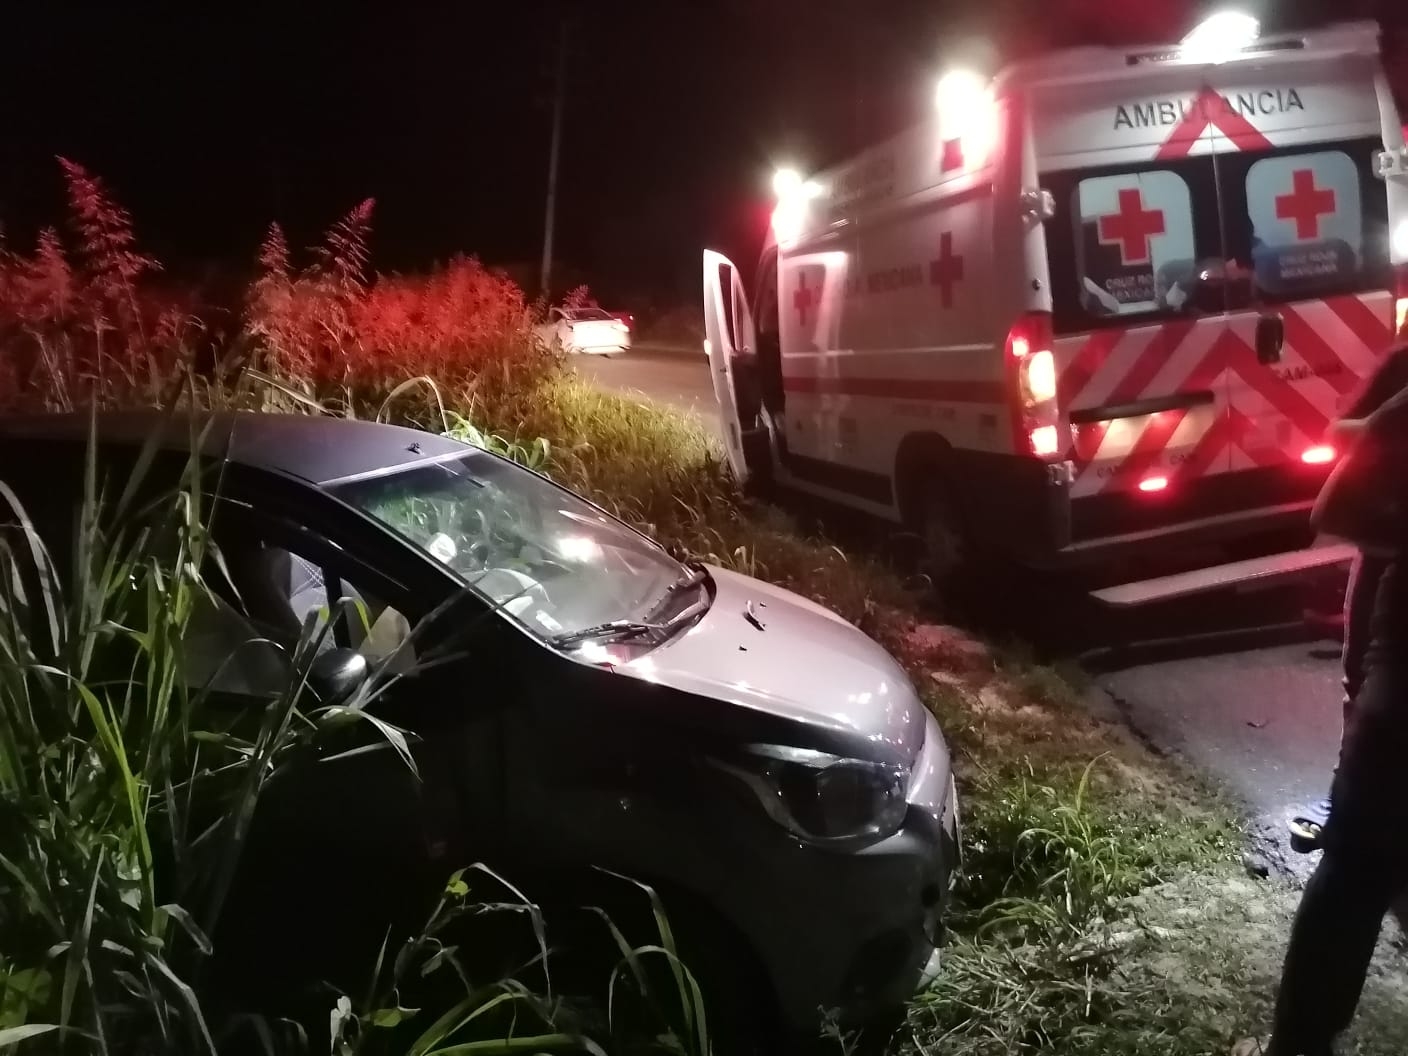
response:
<svg viewBox="0 0 1408 1056"><path fill-rule="evenodd" d="M1004 320L1021 268L995 260L1002 153L945 173L942 139L921 127L850 166L887 175L877 190L852 190L780 253L788 483L901 520L905 490L926 484L907 474L942 459L981 487L984 465L1011 460Z"/></svg>

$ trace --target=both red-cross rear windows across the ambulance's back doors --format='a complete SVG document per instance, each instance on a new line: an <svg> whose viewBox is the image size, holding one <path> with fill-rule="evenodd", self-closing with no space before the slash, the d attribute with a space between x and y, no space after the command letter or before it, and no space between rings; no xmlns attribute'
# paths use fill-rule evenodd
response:
<svg viewBox="0 0 1408 1056"><path fill-rule="evenodd" d="M1378 139L1049 172L1057 334L1391 289Z"/></svg>

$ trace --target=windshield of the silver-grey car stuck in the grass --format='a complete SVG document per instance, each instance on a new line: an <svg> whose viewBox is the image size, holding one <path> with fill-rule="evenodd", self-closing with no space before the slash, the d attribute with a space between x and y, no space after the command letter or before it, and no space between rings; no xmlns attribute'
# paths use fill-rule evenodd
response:
<svg viewBox="0 0 1408 1056"><path fill-rule="evenodd" d="M459 573L541 638L642 620L689 577L570 491L473 453L332 489Z"/></svg>

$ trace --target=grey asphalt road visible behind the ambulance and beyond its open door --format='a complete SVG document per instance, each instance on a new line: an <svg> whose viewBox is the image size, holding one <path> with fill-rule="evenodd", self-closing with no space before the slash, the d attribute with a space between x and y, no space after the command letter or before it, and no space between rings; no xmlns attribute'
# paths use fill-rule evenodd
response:
<svg viewBox="0 0 1408 1056"><path fill-rule="evenodd" d="M679 407L717 428L708 365L701 352L638 349L582 358L597 384ZM1311 862L1286 848L1286 815L1328 788L1339 743L1339 646L1308 641L1294 627L1300 603L1205 603L1149 620L1167 639L1150 649L1102 656L1095 683L1129 725L1160 752L1181 756L1250 810L1274 865L1304 873ZM1286 632L1242 634L1269 624ZM1156 628L1156 629L1155 629Z"/></svg>

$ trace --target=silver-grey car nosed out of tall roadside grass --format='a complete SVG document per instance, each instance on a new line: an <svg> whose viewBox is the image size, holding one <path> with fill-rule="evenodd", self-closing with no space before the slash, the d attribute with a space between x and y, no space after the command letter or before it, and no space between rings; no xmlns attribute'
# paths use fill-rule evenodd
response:
<svg viewBox="0 0 1408 1056"><path fill-rule="evenodd" d="M100 415L100 466L131 465L159 422ZM87 414L0 418L0 480L59 546L87 431ZM155 472L175 483L197 434L177 415ZM791 1029L814 1031L824 1008L888 1011L929 977L957 800L934 715L874 641L434 434L221 414L204 444L221 560L180 643L187 683L259 714L287 677L279 646L331 622L329 693L372 680L369 710L415 735L420 774L394 752L349 750L272 783L259 817L291 848L266 881L276 910L222 925L217 956L248 943L258 957L272 929L291 973L296 948L328 956L290 936L329 898L442 887L487 860L529 894L531 877L600 880L597 866L653 884L689 907L680 925L700 945L686 955L724 946L724 986L760 977L755 995ZM251 984L284 984L260 964Z"/></svg>

